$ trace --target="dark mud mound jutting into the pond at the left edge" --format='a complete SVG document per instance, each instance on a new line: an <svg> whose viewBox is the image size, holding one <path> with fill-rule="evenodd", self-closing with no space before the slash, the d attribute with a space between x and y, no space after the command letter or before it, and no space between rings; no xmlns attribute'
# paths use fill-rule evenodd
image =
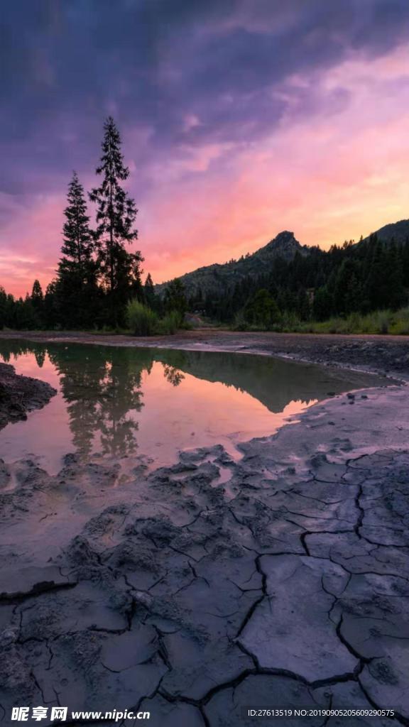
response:
<svg viewBox="0 0 409 727"><path fill-rule="evenodd" d="M44 381L17 376L14 366L0 364L0 429L26 419L28 411L41 409L56 393Z"/></svg>

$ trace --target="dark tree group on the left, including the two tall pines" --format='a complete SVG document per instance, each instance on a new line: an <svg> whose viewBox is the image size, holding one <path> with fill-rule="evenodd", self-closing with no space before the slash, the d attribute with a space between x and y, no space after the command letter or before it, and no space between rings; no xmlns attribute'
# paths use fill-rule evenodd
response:
<svg viewBox="0 0 409 727"><path fill-rule="evenodd" d="M39 281L34 281L31 294L25 298L15 299L0 287L0 327L117 328L127 324L130 300L154 308L158 315L175 306L181 311L184 308L177 282L172 282L164 300L155 296L149 274L142 284L143 257L139 250L128 249L138 240L138 209L124 189L130 171L124 164L122 140L111 116L104 124L102 154L95 172L99 185L88 194L95 205L94 227L87 195L74 172L68 185L56 277L45 293Z"/></svg>

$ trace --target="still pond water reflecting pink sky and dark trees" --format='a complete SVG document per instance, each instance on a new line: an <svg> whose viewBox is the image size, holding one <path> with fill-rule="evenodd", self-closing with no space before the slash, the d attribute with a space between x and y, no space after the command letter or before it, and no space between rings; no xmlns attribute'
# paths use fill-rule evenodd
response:
<svg viewBox="0 0 409 727"><path fill-rule="evenodd" d="M1 340L0 360L58 391L0 432L0 457L50 474L68 452L170 465L178 451L269 435L291 414L376 377L269 356Z"/></svg>

